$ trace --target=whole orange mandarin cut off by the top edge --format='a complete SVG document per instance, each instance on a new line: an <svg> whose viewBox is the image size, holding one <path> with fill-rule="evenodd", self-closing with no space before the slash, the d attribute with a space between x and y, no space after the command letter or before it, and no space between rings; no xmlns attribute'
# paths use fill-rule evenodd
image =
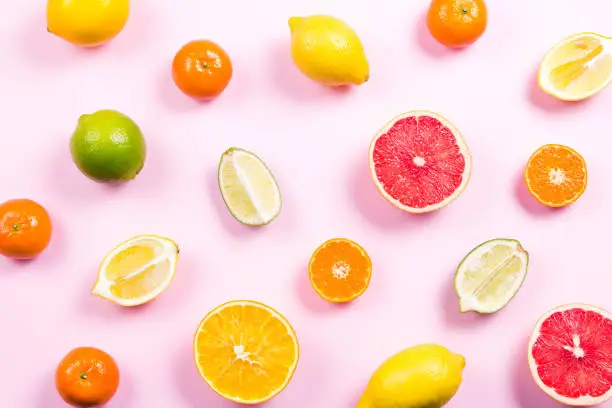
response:
<svg viewBox="0 0 612 408"><path fill-rule="evenodd" d="M487 28L487 7L483 0L433 0L427 13L427 27L447 47L465 47L480 38Z"/></svg>

